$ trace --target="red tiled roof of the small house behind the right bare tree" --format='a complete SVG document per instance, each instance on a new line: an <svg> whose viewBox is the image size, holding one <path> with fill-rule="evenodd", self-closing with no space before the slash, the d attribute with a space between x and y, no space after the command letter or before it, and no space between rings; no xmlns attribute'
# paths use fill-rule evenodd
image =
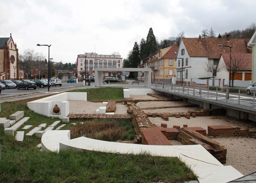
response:
<svg viewBox="0 0 256 183"><path fill-rule="evenodd" d="M226 65L226 67L229 67L230 54L222 53L221 56L224 59L224 63ZM232 61L241 60L240 63L243 64L241 66L241 68L243 68L243 70L249 70L249 71L252 70L252 54L251 53L232 53L232 51L231 51L231 58L232 58L231 65L232 65Z"/></svg>

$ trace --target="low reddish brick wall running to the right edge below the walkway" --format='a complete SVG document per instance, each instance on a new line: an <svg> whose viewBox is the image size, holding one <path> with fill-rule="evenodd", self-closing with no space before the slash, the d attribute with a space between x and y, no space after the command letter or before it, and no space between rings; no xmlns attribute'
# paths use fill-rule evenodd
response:
<svg viewBox="0 0 256 183"><path fill-rule="evenodd" d="M248 128L240 128L227 125L208 126L208 134L214 138L218 137L253 137L256 138L256 131Z"/></svg>

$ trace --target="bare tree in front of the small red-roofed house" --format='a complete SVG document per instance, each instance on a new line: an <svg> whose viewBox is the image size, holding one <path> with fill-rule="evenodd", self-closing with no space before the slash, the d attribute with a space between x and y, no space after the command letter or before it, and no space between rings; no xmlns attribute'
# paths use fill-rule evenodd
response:
<svg viewBox="0 0 256 183"><path fill-rule="evenodd" d="M239 57L239 55L237 56L234 56L232 54L231 56L231 64L230 62L228 61L228 64L224 66L224 69L225 71L227 72L231 72L232 73L232 86L234 86L234 77L235 77L235 74L238 73L238 72L241 72L241 71L244 71L244 70L247 70L247 66L248 63L247 63L247 60L245 57Z"/></svg>

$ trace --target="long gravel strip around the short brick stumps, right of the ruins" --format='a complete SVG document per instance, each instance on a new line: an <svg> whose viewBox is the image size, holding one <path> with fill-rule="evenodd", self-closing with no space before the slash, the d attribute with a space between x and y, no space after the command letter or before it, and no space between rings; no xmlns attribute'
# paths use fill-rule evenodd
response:
<svg viewBox="0 0 256 183"><path fill-rule="evenodd" d="M185 117L169 117L169 121L164 121L160 117L149 117L149 120L158 126L161 126L161 123L166 123L169 128L172 128L173 125L179 125L182 127L183 124L186 124L188 127L200 126L206 130L208 125L232 125L236 127L256 129L256 123L254 122L237 121L235 118L228 116L197 116L196 118L190 117L190 119L186 119Z"/></svg>

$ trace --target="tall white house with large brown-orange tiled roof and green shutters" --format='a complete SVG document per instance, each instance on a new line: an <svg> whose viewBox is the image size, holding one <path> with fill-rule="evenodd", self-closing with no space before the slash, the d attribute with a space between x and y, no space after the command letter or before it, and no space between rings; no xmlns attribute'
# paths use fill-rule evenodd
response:
<svg viewBox="0 0 256 183"><path fill-rule="evenodd" d="M249 39L230 39L229 35L226 38L201 38L200 35L198 38L182 38L176 60L177 81L181 81L182 73L183 81L188 82L200 77L211 77L212 73L204 69L207 62L218 64L221 53L230 53L230 48L225 46L233 46L231 53L250 53L248 42Z"/></svg>

